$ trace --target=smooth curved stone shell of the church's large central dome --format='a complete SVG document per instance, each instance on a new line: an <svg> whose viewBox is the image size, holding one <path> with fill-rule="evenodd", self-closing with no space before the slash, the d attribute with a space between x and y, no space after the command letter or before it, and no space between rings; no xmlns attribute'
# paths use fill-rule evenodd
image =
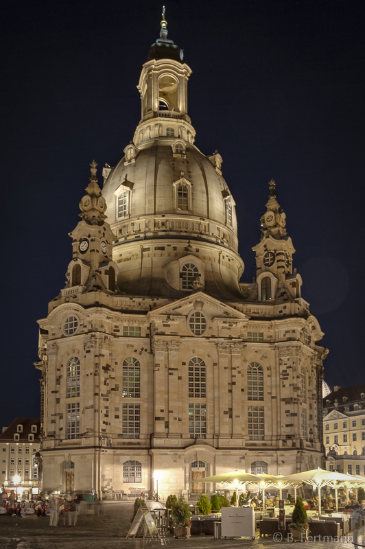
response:
<svg viewBox="0 0 365 549"><path fill-rule="evenodd" d="M103 188L108 209L108 223L117 236L123 234L126 222L158 216L166 218L165 234L180 233L179 221L196 218L196 237L217 242L237 250L237 220L232 205L232 220L226 223L226 199L230 193L220 170L192 143L186 143L185 154L174 154L174 139L161 137L141 143L133 162L126 156L110 172ZM178 182L189 186L191 196L187 210L176 204ZM175 185L174 185L175 184ZM122 187L121 187L122 186ZM119 217L118 196L126 189L130 194L128 219ZM174 223L175 220L175 223ZM211 223L211 230L202 229L202 222ZM152 229L152 227L151 227ZM176 229L176 230L175 230ZM121 232L119 232L121 231ZM141 237L142 235L136 235ZM160 235L161 237L162 235ZM193 236L193 235L192 235Z"/></svg>

